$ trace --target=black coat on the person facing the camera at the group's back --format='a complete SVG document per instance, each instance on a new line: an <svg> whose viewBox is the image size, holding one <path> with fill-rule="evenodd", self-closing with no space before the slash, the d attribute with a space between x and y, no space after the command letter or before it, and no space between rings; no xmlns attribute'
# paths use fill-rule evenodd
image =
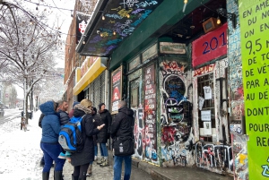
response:
<svg viewBox="0 0 269 180"><path fill-rule="evenodd" d="M105 124L97 135L97 141L99 143L107 143L110 137L111 115L107 109L100 111L96 116L99 116L99 125Z"/></svg>

